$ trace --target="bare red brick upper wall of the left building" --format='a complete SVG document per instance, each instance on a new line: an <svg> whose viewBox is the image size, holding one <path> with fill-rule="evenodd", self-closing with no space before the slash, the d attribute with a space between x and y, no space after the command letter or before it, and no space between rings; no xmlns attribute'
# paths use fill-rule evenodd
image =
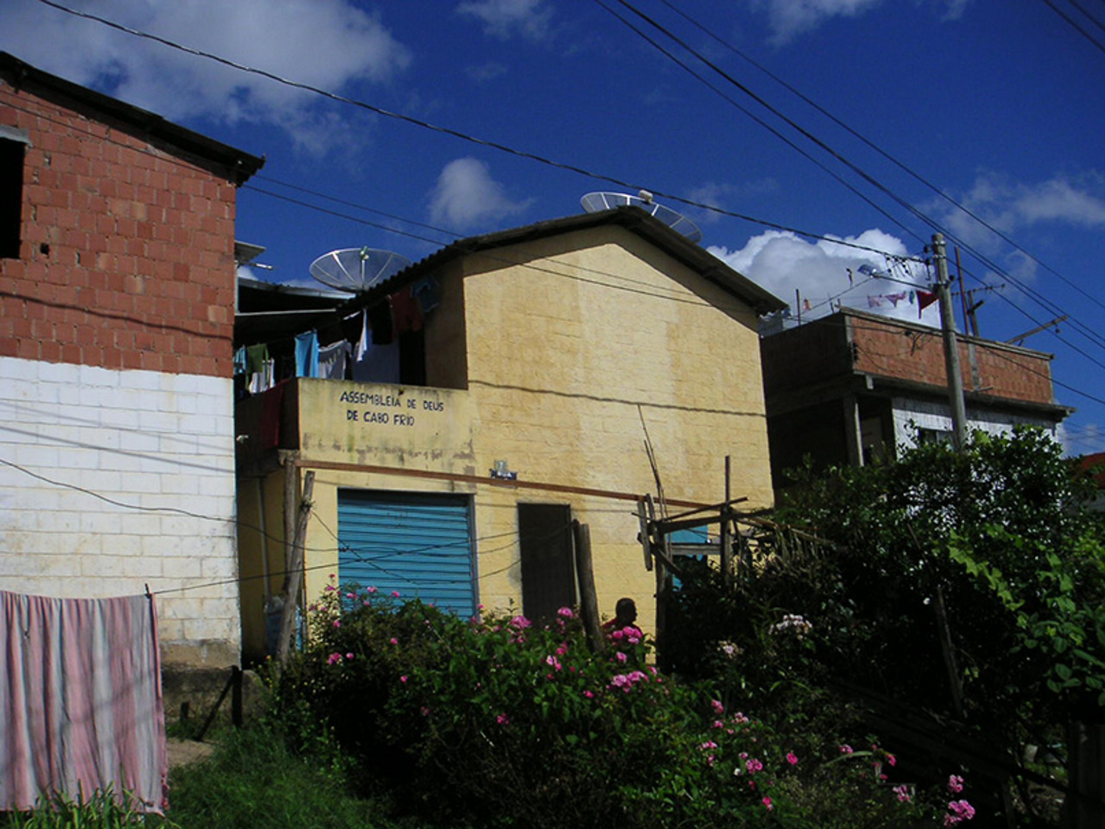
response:
<svg viewBox="0 0 1105 829"><path fill-rule="evenodd" d="M0 357L231 376L234 185L3 82L0 124L31 141Z"/></svg>

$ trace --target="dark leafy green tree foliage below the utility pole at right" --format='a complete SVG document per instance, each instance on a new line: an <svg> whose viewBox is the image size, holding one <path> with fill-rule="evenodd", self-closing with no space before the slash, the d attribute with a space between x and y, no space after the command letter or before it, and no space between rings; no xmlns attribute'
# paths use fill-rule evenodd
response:
<svg viewBox="0 0 1105 829"><path fill-rule="evenodd" d="M996 779L1025 743L1099 719L1105 532L1050 436L977 433L796 479L777 518L834 546L745 567L728 595L690 573L670 642L684 672L781 718L892 701L988 753Z"/></svg>

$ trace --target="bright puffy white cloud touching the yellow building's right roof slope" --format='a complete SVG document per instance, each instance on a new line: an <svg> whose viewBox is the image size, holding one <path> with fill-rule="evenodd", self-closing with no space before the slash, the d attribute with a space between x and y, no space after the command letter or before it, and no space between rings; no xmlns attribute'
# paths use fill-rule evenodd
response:
<svg viewBox="0 0 1105 829"><path fill-rule="evenodd" d="M901 240L880 230L870 230L841 241L883 251L886 255L824 240L807 242L785 231L767 231L753 236L743 248L733 252L716 246L707 249L757 285L789 302L792 311L797 290L801 296L803 319L823 317L835 310L838 302L843 302L852 308L887 317L914 321L920 319L927 325L939 325L936 305L929 306L918 316L915 291L914 301L911 302L912 289L903 281L927 288L932 277L924 265L902 262L901 257L908 256L909 252ZM872 278L860 272L863 266L894 279ZM849 270L852 272L851 280Z"/></svg>

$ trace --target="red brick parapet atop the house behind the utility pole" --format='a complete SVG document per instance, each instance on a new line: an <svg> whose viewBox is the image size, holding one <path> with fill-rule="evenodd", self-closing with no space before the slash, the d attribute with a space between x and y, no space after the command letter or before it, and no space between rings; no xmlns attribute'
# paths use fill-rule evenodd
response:
<svg viewBox="0 0 1105 829"><path fill-rule="evenodd" d="M937 329L904 326L895 320L851 320L855 370L901 380L946 385L944 341ZM959 341L959 368L964 389L999 397L1053 403L1051 359L999 342L975 341L978 386L971 371L971 348Z"/></svg>

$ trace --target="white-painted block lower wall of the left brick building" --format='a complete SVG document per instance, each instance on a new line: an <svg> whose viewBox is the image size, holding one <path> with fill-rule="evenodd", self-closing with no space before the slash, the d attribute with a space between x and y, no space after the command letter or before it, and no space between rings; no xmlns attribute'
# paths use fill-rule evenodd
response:
<svg viewBox="0 0 1105 829"><path fill-rule="evenodd" d="M0 358L0 588L148 585L167 663L235 663L234 521L231 380Z"/></svg>

